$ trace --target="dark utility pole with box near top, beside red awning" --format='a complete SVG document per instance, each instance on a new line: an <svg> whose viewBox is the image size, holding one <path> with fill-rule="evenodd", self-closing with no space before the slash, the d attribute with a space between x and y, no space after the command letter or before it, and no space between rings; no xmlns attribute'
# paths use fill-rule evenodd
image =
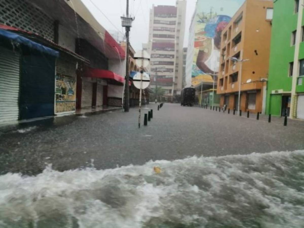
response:
<svg viewBox="0 0 304 228"><path fill-rule="evenodd" d="M120 17L122 20L122 26L126 27L126 77L125 77L125 102L124 102L124 111L129 111L129 100L130 100L130 91L129 91L129 32L132 25L132 18L129 18L129 0L127 0L127 9L126 17Z"/></svg>

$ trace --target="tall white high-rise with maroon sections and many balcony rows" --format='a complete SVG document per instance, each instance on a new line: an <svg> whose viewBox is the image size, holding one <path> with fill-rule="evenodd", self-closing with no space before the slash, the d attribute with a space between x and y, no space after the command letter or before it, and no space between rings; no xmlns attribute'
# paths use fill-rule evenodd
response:
<svg viewBox="0 0 304 228"><path fill-rule="evenodd" d="M165 89L165 100L180 94L183 81L183 43L186 1L175 6L158 5L150 9L147 51L151 55L151 88Z"/></svg>

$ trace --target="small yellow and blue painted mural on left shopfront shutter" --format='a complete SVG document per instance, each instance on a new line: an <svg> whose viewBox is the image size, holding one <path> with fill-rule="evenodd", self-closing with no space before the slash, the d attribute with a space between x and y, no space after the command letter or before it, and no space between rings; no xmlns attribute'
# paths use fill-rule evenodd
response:
<svg viewBox="0 0 304 228"><path fill-rule="evenodd" d="M76 108L76 77L56 75L56 113Z"/></svg>

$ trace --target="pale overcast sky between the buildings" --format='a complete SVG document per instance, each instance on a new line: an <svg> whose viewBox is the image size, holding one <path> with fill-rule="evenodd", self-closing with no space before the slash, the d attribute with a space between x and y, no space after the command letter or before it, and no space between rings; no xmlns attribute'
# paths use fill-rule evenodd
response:
<svg viewBox="0 0 304 228"><path fill-rule="evenodd" d="M126 0L81 0L92 12L98 22L108 31L119 30L121 27L120 16L126 14ZM94 4L105 14L102 15ZM175 0L129 0L129 14L135 16L130 32L130 43L135 50L142 48L142 43L147 43L149 33L149 9L152 5L175 5ZM196 0L187 0L186 27L184 47L188 46L188 35L191 18L195 9ZM112 23L111 23L112 22ZM113 24L113 25L112 25Z"/></svg>

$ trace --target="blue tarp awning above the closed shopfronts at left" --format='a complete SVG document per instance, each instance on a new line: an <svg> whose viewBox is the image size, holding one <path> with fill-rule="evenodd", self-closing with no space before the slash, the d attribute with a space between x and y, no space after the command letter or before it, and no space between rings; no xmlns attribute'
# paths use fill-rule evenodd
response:
<svg viewBox="0 0 304 228"><path fill-rule="evenodd" d="M51 48L43 46L43 45L41 45L39 43L36 43L36 42L34 42L30 39L27 39L23 36L20 36L20 35L16 34L16 33L6 31L4 29L0 29L0 38L11 40L13 43L19 43L19 44L25 45L25 46L27 46L31 49L35 49L35 50L37 50L41 53L45 53L45 54L54 56L56 58L59 57L59 52L58 51L55 51Z"/></svg>

